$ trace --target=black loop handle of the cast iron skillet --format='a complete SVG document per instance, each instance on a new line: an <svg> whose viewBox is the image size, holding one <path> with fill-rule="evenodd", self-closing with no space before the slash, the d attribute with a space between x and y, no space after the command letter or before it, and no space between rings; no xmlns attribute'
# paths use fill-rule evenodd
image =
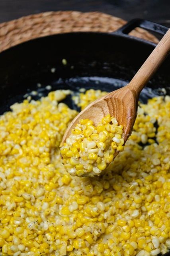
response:
<svg viewBox="0 0 170 256"><path fill-rule="evenodd" d="M164 35L168 31L168 28L157 24L155 22L143 19L133 19L127 22L124 26L116 30L114 33L116 34L129 34L134 28L144 28L152 32L156 32L158 34Z"/></svg>

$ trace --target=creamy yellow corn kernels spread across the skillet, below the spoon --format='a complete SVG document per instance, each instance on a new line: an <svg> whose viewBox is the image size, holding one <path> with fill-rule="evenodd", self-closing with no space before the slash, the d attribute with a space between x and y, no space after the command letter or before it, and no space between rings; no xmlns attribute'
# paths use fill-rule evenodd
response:
<svg viewBox="0 0 170 256"><path fill-rule="evenodd" d="M16 103L0 117L0 254L167 252L170 97L140 105L134 132L103 176L79 178L64 170L59 152L77 114L59 103L66 94L50 92L39 101Z"/></svg>

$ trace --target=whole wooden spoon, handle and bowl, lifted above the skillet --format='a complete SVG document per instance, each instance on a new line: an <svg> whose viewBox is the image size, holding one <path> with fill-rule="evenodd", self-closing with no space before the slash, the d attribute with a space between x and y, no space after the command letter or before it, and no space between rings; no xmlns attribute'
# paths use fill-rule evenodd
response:
<svg viewBox="0 0 170 256"><path fill-rule="evenodd" d="M114 116L118 124L123 124L124 140L126 142L127 138L131 135L137 116L139 94L160 64L165 60L169 51L170 29L154 48L131 82L123 88L110 92L106 96L95 100L84 108L68 126L62 142L65 142L72 128L74 128L80 119L89 118L94 121L94 125L97 125L107 114Z"/></svg>

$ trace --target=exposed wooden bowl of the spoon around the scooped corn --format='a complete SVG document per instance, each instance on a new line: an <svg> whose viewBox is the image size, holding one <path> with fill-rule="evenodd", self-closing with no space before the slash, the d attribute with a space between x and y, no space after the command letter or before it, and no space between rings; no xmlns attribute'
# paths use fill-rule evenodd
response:
<svg viewBox="0 0 170 256"><path fill-rule="evenodd" d="M119 90L110 92L84 108L68 126L62 142L65 142L66 138L71 134L72 128L74 128L81 119L88 118L92 120L96 126L107 114L114 116L118 124L123 125L123 139L126 142L133 129L137 114L137 96L133 95L136 94L136 92L130 88L127 89L127 87L128 85ZM129 102L131 104L129 104Z"/></svg>

